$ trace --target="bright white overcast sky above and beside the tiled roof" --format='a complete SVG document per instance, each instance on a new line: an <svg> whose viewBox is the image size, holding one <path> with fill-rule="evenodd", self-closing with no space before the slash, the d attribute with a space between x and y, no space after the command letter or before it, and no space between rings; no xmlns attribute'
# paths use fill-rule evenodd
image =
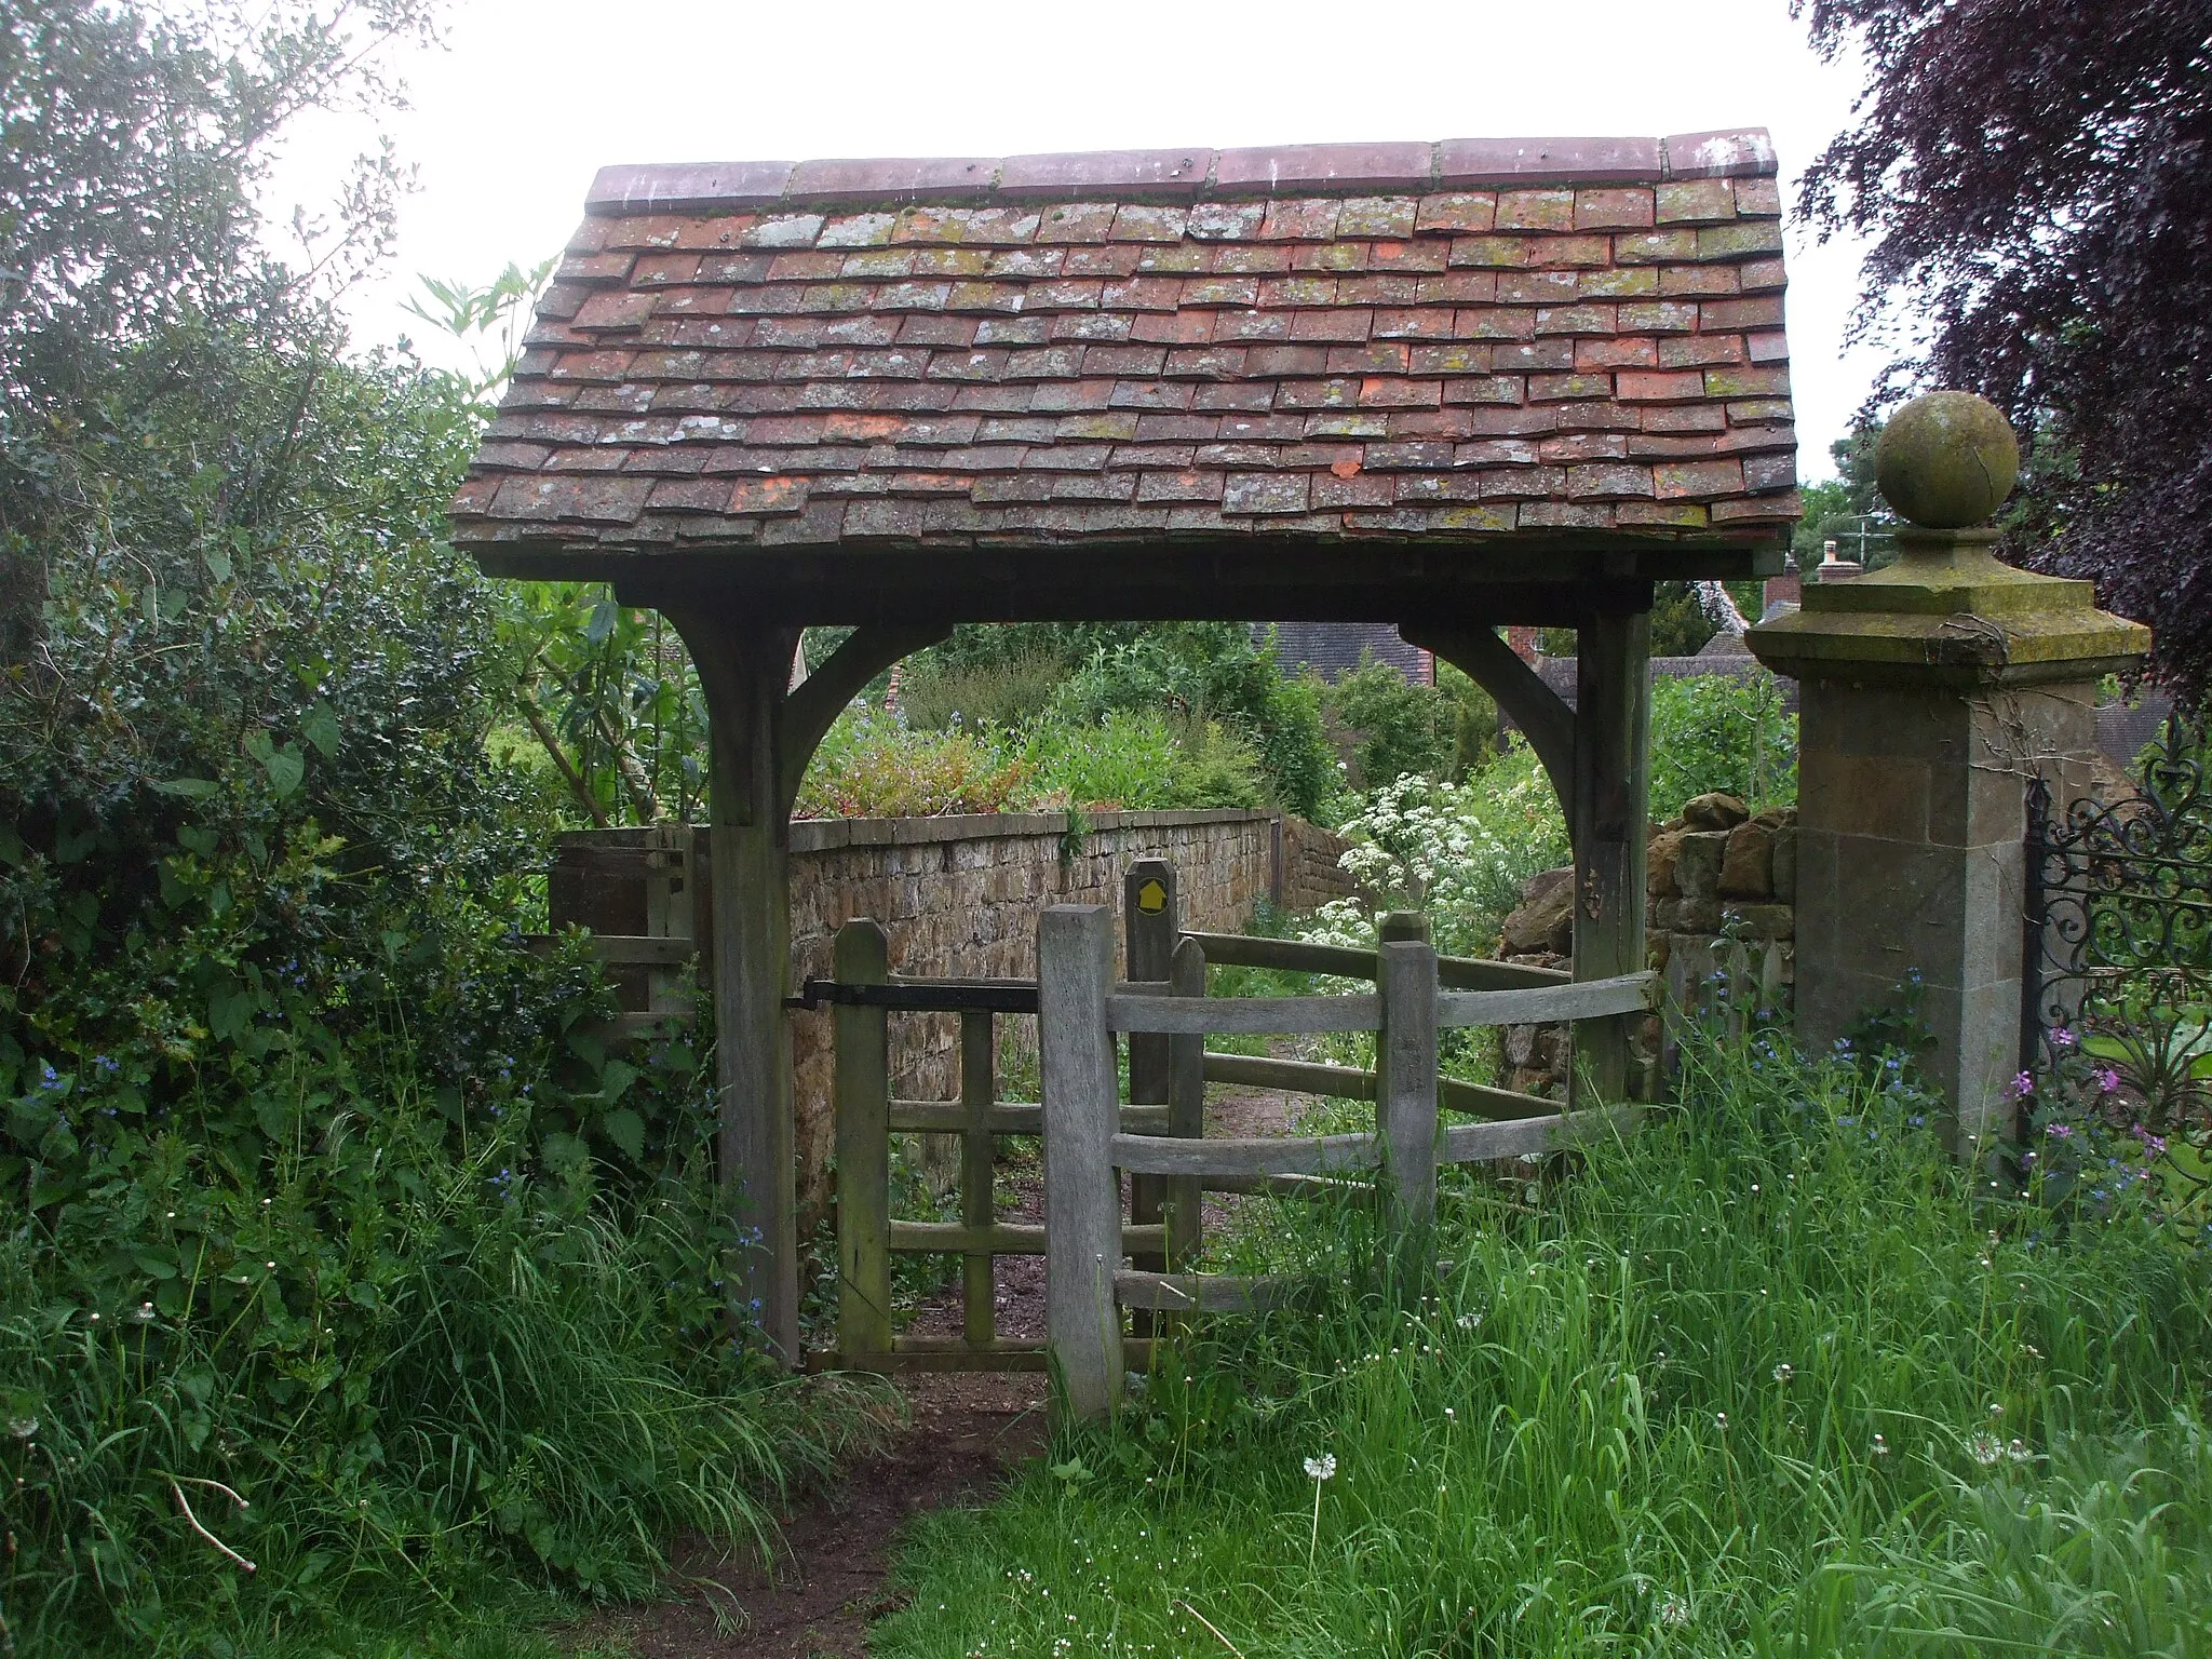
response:
<svg viewBox="0 0 2212 1659"><path fill-rule="evenodd" d="M453 0L394 69L420 168L398 254L354 296L363 345L427 330L418 274L489 281L557 250L611 161L1020 155L1181 144L1690 133L1767 126L1794 179L1849 119L1785 0L905 4ZM361 146L303 131L279 192L314 201ZM1790 232L1798 469L1827 478L1878 354L1845 352L1858 250Z"/></svg>

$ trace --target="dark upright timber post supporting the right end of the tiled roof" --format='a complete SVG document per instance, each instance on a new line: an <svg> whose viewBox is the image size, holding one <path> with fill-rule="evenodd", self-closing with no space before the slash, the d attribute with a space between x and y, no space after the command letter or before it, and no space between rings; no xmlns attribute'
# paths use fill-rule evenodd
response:
<svg viewBox="0 0 2212 1659"><path fill-rule="evenodd" d="M1650 794L1650 613L1588 617L1575 630L1575 978L1644 969L1644 841ZM1575 1024L1568 1099L1626 1099L1641 1015Z"/></svg>

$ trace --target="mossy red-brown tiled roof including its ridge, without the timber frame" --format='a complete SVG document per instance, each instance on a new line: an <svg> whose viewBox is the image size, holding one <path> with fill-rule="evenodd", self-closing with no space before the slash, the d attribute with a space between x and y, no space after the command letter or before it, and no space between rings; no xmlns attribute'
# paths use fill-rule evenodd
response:
<svg viewBox="0 0 2212 1659"><path fill-rule="evenodd" d="M1765 133L608 168L453 504L500 546L1772 546Z"/></svg>

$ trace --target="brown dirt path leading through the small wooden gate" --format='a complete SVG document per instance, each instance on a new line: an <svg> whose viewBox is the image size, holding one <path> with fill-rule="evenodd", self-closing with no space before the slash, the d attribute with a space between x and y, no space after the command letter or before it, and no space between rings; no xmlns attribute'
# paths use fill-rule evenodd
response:
<svg viewBox="0 0 2212 1659"><path fill-rule="evenodd" d="M1208 1099L1206 1133L1281 1135L1294 1102L1225 1093ZM1042 1214L1042 1181L1029 1175L1002 1219ZM1223 1219L1223 1201L1208 1199L1206 1225ZM1000 1334L1044 1336L1044 1256L1000 1256L993 1285ZM958 1334L958 1285L922 1305L909 1329ZM987 1502L1046 1444L1040 1371L909 1376L900 1391L907 1425L880 1455L781 1517L783 1546L772 1566L719 1559L703 1546L686 1551L670 1575L681 1599L599 1615L582 1637L639 1659L865 1659L869 1624L898 1608L887 1575L907 1522L947 1504Z"/></svg>

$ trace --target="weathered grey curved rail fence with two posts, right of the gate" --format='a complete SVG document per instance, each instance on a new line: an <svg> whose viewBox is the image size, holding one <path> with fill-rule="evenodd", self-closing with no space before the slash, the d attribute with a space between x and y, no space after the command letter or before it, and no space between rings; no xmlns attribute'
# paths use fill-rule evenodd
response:
<svg viewBox="0 0 2212 1659"><path fill-rule="evenodd" d="M1206 998L1206 945L1221 956L1243 949L1265 967L1371 978L1374 993L1303 998ZM1228 947L1228 949L1223 949ZM1259 949L1263 947L1263 949ZM1217 956L1214 960L1221 960ZM1192 964L1197 971L1192 973ZM1115 984L1113 914L1102 905L1055 905L1037 920L1037 1042L1042 1055L1046 1345L1075 1416L1110 1411L1128 1360L1121 1310L1232 1312L1279 1301L1285 1281L1121 1267L1121 1172L1159 1177L1186 1194L1221 1181L1301 1183L1374 1179L1387 1223L1422 1239L1436 1212L1440 1164L1533 1157L1571 1146L1597 1128L1617 1128L1626 1104L1590 1108L1462 1086L1447 1099L1438 1075L1438 1031L1531 1022L1637 1020L1659 995L1657 973L1566 980L1537 969L1455 960L1444 989L1420 918L1385 918L1374 951L1301 947L1281 940L1186 938L1168 984ZM1537 978L1542 975L1542 978ZM1537 982L1531 982L1537 980ZM1312 1093L1356 1093L1376 1102L1376 1130L1321 1137L1203 1139L1146 1133L1124 1121L1115 1035L1199 1040L1206 1033L1374 1031L1376 1068L1254 1062L1203 1055L1201 1077L1237 1073ZM1234 1062L1223 1066L1219 1062ZM1356 1084L1356 1088L1347 1088ZM1502 1097L1502 1099L1500 1099ZM1447 1106L1482 1110L1491 1121L1444 1124ZM1502 1108L1502 1110L1500 1110ZM1166 1243L1166 1241L1164 1241Z"/></svg>

